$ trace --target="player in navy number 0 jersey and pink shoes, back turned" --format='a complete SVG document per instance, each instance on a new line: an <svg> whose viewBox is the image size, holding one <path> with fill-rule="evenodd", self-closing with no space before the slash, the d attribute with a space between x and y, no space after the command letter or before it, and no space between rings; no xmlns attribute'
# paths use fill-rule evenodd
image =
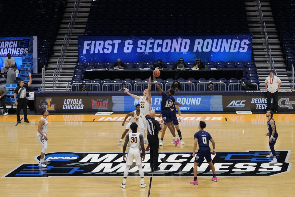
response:
<svg viewBox="0 0 295 197"><path fill-rule="evenodd" d="M210 152L210 147L209 147L209 141L212 143L213 146L213 153L212 155L215 155L215 142L213 138L211 137L210 133L204 131L204 128L206 127L206 123L204 121L200 121L198 129L200 131L195 133L195 143L194 143L194 150L193 150L193 157L195 156L195 151L197 148L197 145L199 143L199 150L197 152L196 158L195 158L195 163L194 163L194 180L192 180L190 183L194 185L198 185L197 181L197 173L198 173L198 165L199 163L203 163L204 158L206 158L212 173L212 181L217 181L217 177L215 174L215 167L212 163L211 159L211 152Z"/></svg>

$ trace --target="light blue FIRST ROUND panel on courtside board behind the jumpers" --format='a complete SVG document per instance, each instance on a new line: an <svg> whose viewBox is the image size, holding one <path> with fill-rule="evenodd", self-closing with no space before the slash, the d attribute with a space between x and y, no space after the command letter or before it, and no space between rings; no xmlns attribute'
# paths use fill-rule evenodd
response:
<svg viewBox="0 0 295 197"><path fill-rule="evenodd" d="M151 109L161 111L162 96L151 96ZM174 96L181 111L223 111L222 95L218 96ZM131 96L112 96L112 111L134 111L139 100Z"/></svg>

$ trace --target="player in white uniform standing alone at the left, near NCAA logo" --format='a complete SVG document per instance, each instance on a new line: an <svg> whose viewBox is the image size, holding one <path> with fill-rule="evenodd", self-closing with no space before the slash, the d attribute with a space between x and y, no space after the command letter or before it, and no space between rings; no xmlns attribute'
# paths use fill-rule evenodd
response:
<svg viewBox="0 0 295 197"><path fill-rule="evenodd" d="M39 125L38 125L38 132L37 132L37 138L41 144L42 147L42 151L40 154L40 162L39 162L39 166L40 167L47 167L44 162L50 162L49 159L45 158L45 151L47 148L47 125L48 125L48 120L47 120L47 116L49 115L47 110L42 110L41 114L43 115L41 117L41 119L39 120Z"/></svg>

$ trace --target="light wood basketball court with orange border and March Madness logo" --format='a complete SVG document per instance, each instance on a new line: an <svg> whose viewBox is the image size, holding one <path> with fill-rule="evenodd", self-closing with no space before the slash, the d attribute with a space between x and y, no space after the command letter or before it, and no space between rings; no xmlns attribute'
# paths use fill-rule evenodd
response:
<svg viewBox="0 0 295 197"><path fill-rule="evenodd" d="M49 112L50 113L50 112ZM287 196L293 193L295 173L295 114L274 114L278 131L275 150L278 164L268 165L265 114L183 114L179 127L185 145L174 147L167 129L159 147L160 171L151 173L149 156L144 182L132 165L123 181L123 145L118 146L126 114L50 115L47 168L38 168L41 147L37 126L41 115L28 115L30 123L16 125L16 116L0 116L0 196ZM21 118L23 115L21 115ZM122 118L123 117L123 118ZM193 179L194 134L200 120L207 124L216 144L213 163L218 182L211 181L207 163L198 168L199 185ZM145 144L146 147L146 144ZM212 145L210 144L211 150ZM61 155L64 155L62 157ZM51 156L50 156L51 155ZM39 157L38 157L39 156ZM123 170L122 170L123 169Z"/></svg>

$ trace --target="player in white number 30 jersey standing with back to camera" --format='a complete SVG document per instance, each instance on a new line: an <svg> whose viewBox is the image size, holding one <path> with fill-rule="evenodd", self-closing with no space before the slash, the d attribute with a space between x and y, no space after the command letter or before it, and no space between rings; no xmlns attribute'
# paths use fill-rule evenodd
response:
<svg viewBox="0 0 295 197"><path fill-rule="evenodd" d="M137 124L131 123L130 129L132 130L131 133L128 133L125 138L124 146L123 146L123 160L125 161L125 151L127 144L129 142L129 150L127 154L126 159L126 167L124 170L123 175L123 183L121 184L122 188L126 187L126 179L128 176L128 171L130 166L133 163L133 159L135 160L135 163L139 170L140 180L141 180L141 188L147 187L146 184L144 184L144 171L142 170L142 164L141 161L144 161L144 136L137 132ZM142 156L140 155L140 149L142 151Z"/></svg>

